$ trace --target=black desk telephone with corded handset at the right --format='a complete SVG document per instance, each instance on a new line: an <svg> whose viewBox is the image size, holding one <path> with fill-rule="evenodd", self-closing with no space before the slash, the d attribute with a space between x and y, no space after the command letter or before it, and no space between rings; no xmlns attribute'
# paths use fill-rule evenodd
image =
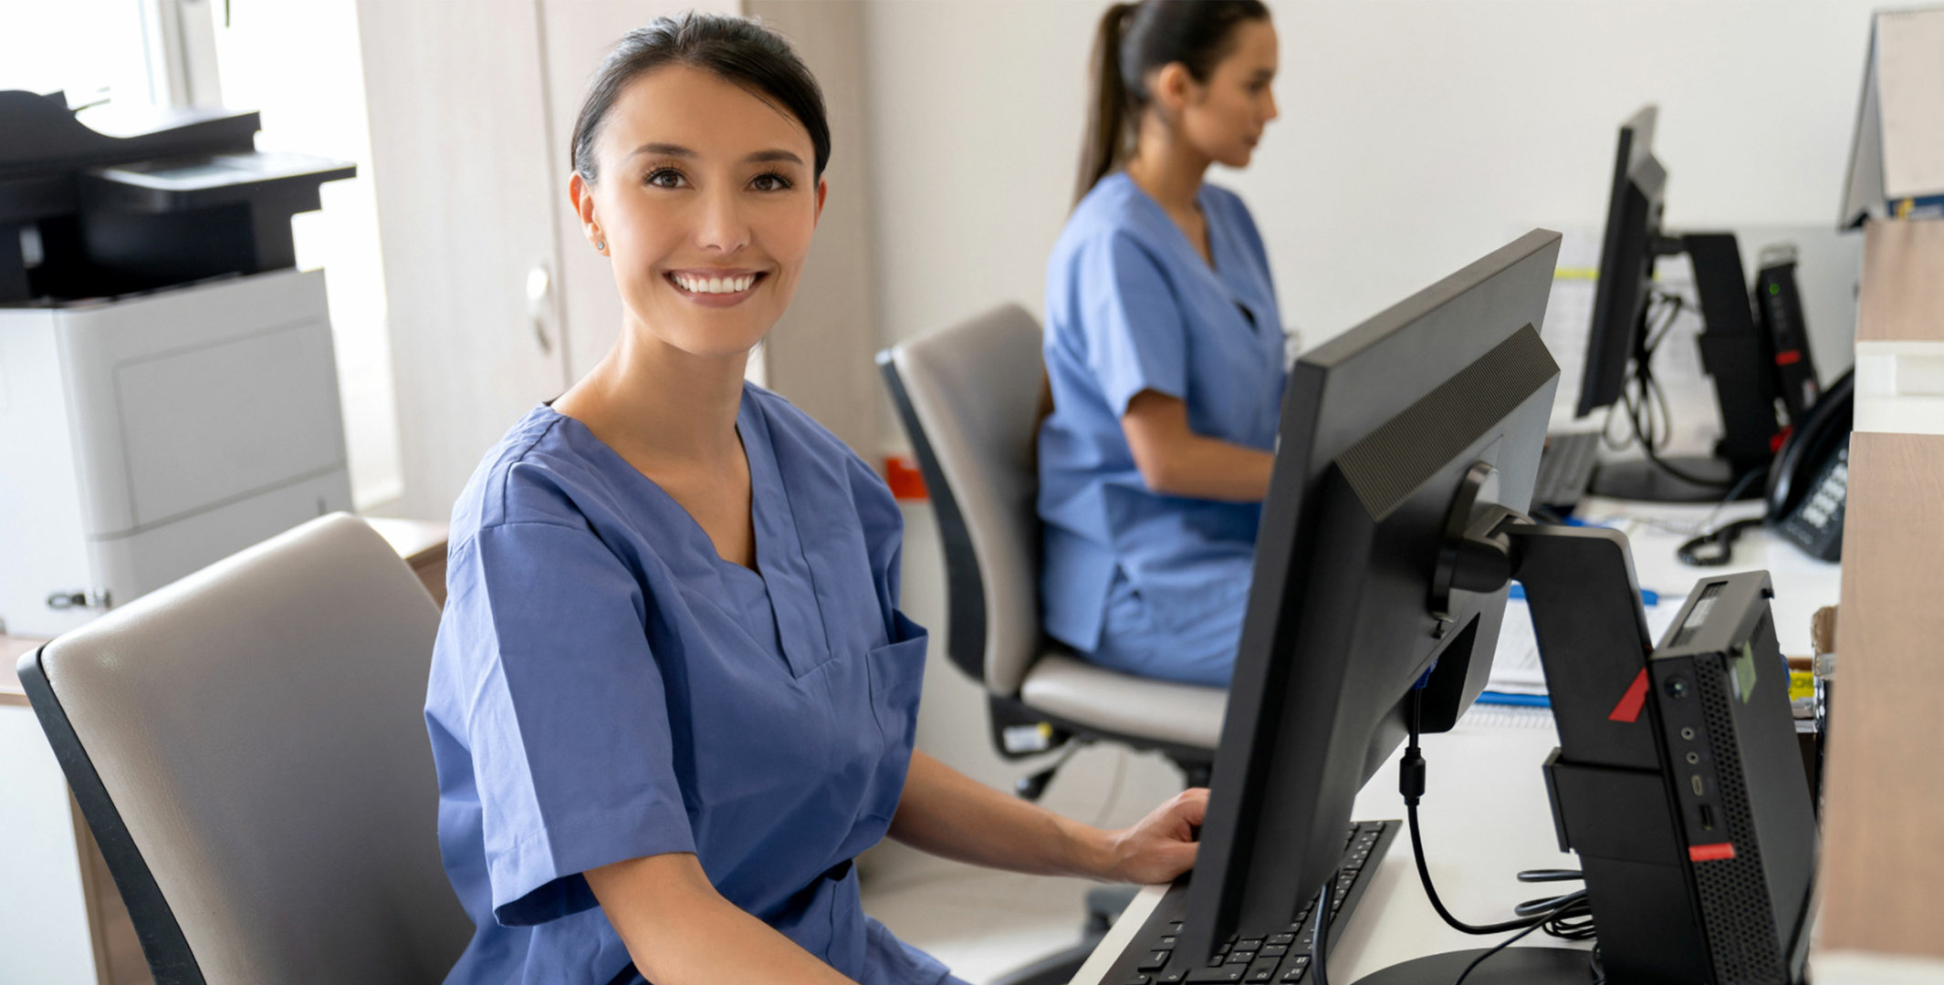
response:
<svg viewBox="0 0 1944 985"><path fill-rule="evenodd" d="M1684 563L1728 563L1742 530L1767 523L1777 536L1822 561L1843 558L1843 507L1849 497L1849 431L1857 418L1857 371L1823 391L1802 414L1769 462L1767 513L1709 530L1676 552Z"/></svg>

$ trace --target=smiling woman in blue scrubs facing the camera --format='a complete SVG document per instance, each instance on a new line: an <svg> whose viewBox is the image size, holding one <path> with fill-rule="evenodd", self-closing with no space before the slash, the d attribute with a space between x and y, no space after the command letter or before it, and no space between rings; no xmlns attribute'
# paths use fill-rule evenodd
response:
<svg viewBox="0 0 1944 985"><path fill-rule="evenodd" d="M624 324L453 509L426 697L476 923L451 983L931 985L953 979L859 905L851 859L886 833L1104 880L1194 861L1205 791L1104 832L912 750L898 507L743 381L828 155L816 82L754 21L659 19L589 87L570 194Z"/></svg>

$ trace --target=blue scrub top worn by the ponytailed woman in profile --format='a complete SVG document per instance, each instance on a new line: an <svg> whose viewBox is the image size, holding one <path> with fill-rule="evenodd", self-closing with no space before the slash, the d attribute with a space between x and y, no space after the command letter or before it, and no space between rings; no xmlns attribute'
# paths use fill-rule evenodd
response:
<svg viewBox="0 0 1944 985"><path fill-rule="evenodd" d="M1126 643L1102 641L1114 591L1116 610L1145 610L1143 649L1201 647L1217 626L1232 664L1262 505L1157 495L1120 425L1157 391L1198 435L1275 449L1287 363L1269 258L1240 198L1203 183L1198 202L1213 266L1126 173L1073 208L1046 264L1040 598L1048 633L1083 653Z"/></svg>

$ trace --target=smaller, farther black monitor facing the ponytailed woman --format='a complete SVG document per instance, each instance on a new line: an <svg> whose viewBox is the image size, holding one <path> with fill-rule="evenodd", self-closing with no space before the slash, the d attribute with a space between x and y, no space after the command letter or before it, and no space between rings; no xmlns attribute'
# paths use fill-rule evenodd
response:
<svg viewBox="0 0 1944 985"><path fill-rule="evenodd" d="M1580 418L1619 400L1627 361L1641 342L1647 295L1654 280L1654 241L1660 239L1662 190L1668 183L1666 169L1654 159L1656 115L1658 109L1643 107L1619 124L1614 192L1600 241L1600 280L1592 293L1586 369L1575 408Z"/></svg>

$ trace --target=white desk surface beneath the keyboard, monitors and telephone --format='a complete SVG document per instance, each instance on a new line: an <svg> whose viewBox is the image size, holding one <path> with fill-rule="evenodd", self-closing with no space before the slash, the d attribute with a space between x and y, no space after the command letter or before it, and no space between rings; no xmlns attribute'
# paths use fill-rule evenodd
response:
<svg viewBox="0 0 1944 985"><path fill-rule="evenodd" d="M1588 499L1579 513L1590 521L1612 521L1625 532L1641 587L1662 596L1685 596L1705 575L1767 569L1775 581L1771 612L1783 653L1808 655L1810 616L1837 602L1839 565L1816 561L1759 528L1742 536L1726 567L1687 567L1676 560L1674 550L1691 534L1668 526L1691 525L1707 517L1709 509ZM1717 523L1759 513L1759 501L1742 503L1722 509ZM1647 523L1649 519L1652 523ZM1680 606L1682 598L1666 598L1662 604ZM1559 851L1545 779L1540 773L1545 756L1559 742L1549 719L1542 719L1540 725L1530 721L1503 725L1487 719L1518 719L1518 715L1479 707L1460 721L1458 729L1423 738L1427 775L1419 820L1431 880L1444 905L1458 919L1472 923L1510 919L1514 903L1545 896L1557 886L1516 882L1512 876L1518 870L1579 868L1575 855ZM1404 818L1404 798L1398 797L1398 771L1392 764L1378 769L1357 795L1355 820ZM1330 952L1330 979L1337 985L1353 985L1363 975L1425 954L1481 948L1501 940L1462 934L1439 919L1417 886L1407 832L1398 833L1371 878L1371 888L1365 890L1343 936ZM1102 977L1153 913L1163 892L1164 886L1141 890L1073 977L1073 985L1120 985ZM1528 944L1569 946L1544 933L1534 933L1514 946Z"/></svg>

